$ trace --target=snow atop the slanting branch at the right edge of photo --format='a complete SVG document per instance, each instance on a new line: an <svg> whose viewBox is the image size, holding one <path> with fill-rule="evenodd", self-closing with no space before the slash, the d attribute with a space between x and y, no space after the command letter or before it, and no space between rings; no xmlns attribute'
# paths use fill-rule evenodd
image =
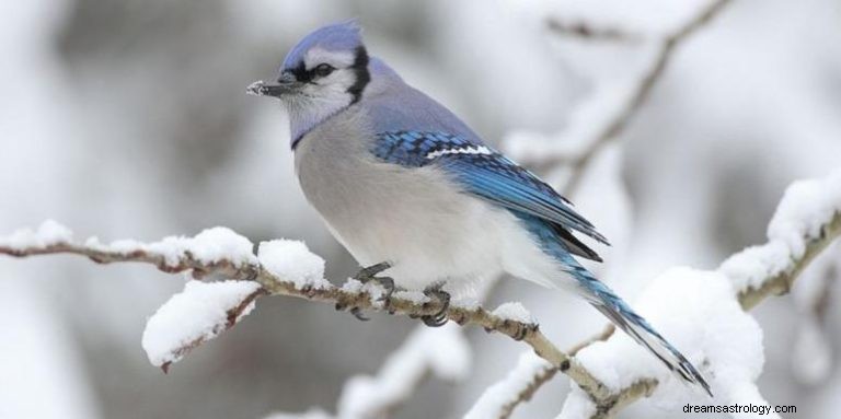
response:
<svg viewBox="0 0 841 419"><path fill-rule="evenodd" d="M791 269L821 225L841 212L841 171L826 178L798 181L783 195L768 226L769 242L727 258L719 271L730 278L734 289L758 288L767 278Z"/></svg>

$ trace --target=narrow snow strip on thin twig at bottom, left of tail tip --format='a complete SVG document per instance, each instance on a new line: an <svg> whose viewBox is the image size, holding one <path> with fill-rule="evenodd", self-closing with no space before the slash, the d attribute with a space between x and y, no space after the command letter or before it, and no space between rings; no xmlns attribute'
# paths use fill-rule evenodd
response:
<svg viewBox="0 0 841 419"><path fill-rule="evenodd" d="M464 415L464 419L497 418L503 407L517 400L518 394L528 387L532 379L545 369L551 369L546 360L526 351L520 354L517 366L506 377L487 387L476 404Z"/></svg>

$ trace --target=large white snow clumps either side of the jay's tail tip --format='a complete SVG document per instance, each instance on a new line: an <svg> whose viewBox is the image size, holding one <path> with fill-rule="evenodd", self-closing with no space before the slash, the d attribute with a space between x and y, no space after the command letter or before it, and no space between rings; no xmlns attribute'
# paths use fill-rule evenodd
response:
<svg viewBox="0 0 841 419"><path fill-rule="evenodd" d="M764 363L762 330L741 310L727 277L673 268L656 278L633 305L699 368L716 401L760 399L754 381ZM703 397L678 384L680 379L622 333L583 349L577 358L613 391L644 377L656 379L660 385L648 401L668 410Z"/></svg>

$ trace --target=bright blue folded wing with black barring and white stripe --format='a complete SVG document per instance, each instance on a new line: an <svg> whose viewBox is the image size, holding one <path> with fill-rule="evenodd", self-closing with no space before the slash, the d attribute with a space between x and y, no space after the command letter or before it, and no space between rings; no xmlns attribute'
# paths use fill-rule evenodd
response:
<svg viewBox="0 0 841 419"><path fill-rule="evenodd" d="M573 244L580 245L584 254L574 252L579 256L596 255L566 229L608 243L551 186L475 140L446 132L388 131L377 136L371 152L382 161L408 167L438 165L451 174L468 193L509 210L551 222L565 242L574 241Z"/></svg>

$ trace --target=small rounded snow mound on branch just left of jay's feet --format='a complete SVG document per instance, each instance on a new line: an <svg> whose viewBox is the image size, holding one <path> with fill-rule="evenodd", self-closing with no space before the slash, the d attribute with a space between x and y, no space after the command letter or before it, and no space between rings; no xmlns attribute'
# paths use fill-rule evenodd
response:
<svg viewBox="0 0 841 419"><path fill-rule="evenodd" d="M257 249L257 259L274 276L295 283L298 289L331 287L324 279L324 259L310 252L302 242L284 238L263 242Z"/></svg>

